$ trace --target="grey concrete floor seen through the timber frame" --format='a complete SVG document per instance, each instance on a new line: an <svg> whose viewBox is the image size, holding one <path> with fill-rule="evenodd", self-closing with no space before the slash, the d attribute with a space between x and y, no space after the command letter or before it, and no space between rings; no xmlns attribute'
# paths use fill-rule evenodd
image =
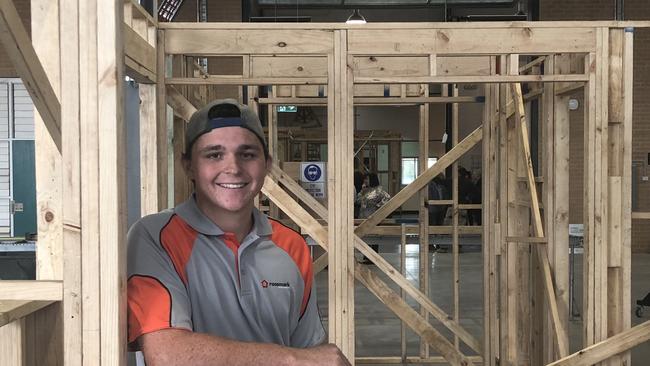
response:
<svg viewBox="0 0 650 366"><path fill-rule="evenodd" d="M406 247L406 276L417 285L419 269L417 238L409 239ZM379 244L379 252L393 266L399 268L399 238L371 238L370 242ZM475 241L472 240L472 244ZM443 247L444 248L444 247ZM358 254L358 253L357 253ZM582 301L582 254L575 256L575 312L579 313ZM471 245L464 247L460 255L460 323L474 337L483 339L483 287L482 287L482 254L479 247ZM374 266L370 266L374 268ZM379 273L377 269L373 269ZM429 255L430 294L434 303L448 314L452 314L452 254L448 252L433 252ZM382 275L383 276L383 275ZM398 289L392 281L383 276L384 280ZM319 296L319 308L327 329L327 270L316 277ZM642 299L650 292L650 254L635 254L632 257L632 323L640 324L650 320L650 308L646 308L644 318L634 315L636 300ZM415 306L415 301L408 299ZM399 356L400 321L363 285L357 283L355 289L356 317L356 354L363 356ZM432 324L436 326L435 319ZM441 333L450 339L450 332L444 327L438 327ZM582 321L579 316L570 323L571 352L582 349ZM461 351L467 355L472 352L464 345ZM419 353L419 338L410 330L407 331L407 354L417 356ZM435 355L432 351L431 355ZM650 360L650 342L637 346L632 351L632 365L647 365Z"/></svg>

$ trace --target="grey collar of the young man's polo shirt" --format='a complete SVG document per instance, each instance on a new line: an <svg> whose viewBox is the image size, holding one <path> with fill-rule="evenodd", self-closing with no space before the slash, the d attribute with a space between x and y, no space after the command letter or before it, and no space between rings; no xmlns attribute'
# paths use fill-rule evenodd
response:
<svg viewBox="0 0 650 366"><path fill-rule="evenodd" d="M196 197L192 195L185 202L174 208L174 213L180 216L194 230L204 235L223 235L224 231L219 228L199 209L196 204ZM253 229L252 234L257 236L268 236L273 232L271 223L266 215L257 208L253 208Z"/></svg>

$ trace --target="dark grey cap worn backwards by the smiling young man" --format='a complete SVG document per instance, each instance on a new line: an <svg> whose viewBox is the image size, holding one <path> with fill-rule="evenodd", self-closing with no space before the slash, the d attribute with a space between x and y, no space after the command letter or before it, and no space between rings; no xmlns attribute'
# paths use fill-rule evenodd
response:
<svg viewBox="0 0 650 366"><path fill-rule="evenodd" d="M234 99L218 99L194 112L185 132L186 154L189 156L192 145L201 135L221 127L242 127L251 131L262 143L264 155L268 157L268 145L259 117L249 106Z"/></svg>

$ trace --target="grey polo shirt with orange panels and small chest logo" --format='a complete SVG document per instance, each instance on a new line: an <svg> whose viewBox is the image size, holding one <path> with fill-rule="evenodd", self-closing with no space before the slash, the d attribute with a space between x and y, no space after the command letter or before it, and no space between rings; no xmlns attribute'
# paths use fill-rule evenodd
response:
<svg viewBox="0 0 650 366"><path fill-rule="evenodd" d="M253 219L239 243L192 197L133 225L127 265L131 345L166 328L301 348L324 340L304 238L257 210Z"/></svg>

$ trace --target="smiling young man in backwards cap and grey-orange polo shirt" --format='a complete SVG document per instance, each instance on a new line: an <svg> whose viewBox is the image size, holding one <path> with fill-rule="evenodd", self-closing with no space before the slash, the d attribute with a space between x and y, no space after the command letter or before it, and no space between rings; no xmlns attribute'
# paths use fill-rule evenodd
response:
<svg viewBox="0 0 650 366"><path fill-rule="evenodd" d="M271 166L257 115L212 102L185 146L194 194L129 231L129 345L148 366L349 365L321 345L304 239L253 205Z"/></svg>

